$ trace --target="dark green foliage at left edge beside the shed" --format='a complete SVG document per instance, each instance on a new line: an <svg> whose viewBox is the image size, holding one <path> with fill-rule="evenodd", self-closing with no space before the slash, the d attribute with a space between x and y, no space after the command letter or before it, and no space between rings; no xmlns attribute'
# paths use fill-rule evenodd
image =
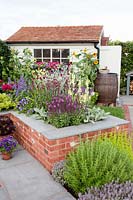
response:
<svg viewBox="0 0 133 200"><path fill-rule="evenodd" d="M10 48L8 45L0 40L0 79L7 81L13 68L9 66Z"/></svg>

